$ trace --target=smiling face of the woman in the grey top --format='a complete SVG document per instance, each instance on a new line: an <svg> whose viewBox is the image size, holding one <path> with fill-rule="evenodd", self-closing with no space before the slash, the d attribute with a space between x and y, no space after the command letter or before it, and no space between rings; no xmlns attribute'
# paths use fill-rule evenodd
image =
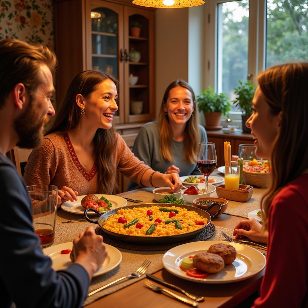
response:
<svg viewBox="0 0 308 308"><path fill-rule="evenodd" d="M188 89L178 86L169 91L164 111L168 113L170 125L186 124L194 109L193 96Z"/></svg>

